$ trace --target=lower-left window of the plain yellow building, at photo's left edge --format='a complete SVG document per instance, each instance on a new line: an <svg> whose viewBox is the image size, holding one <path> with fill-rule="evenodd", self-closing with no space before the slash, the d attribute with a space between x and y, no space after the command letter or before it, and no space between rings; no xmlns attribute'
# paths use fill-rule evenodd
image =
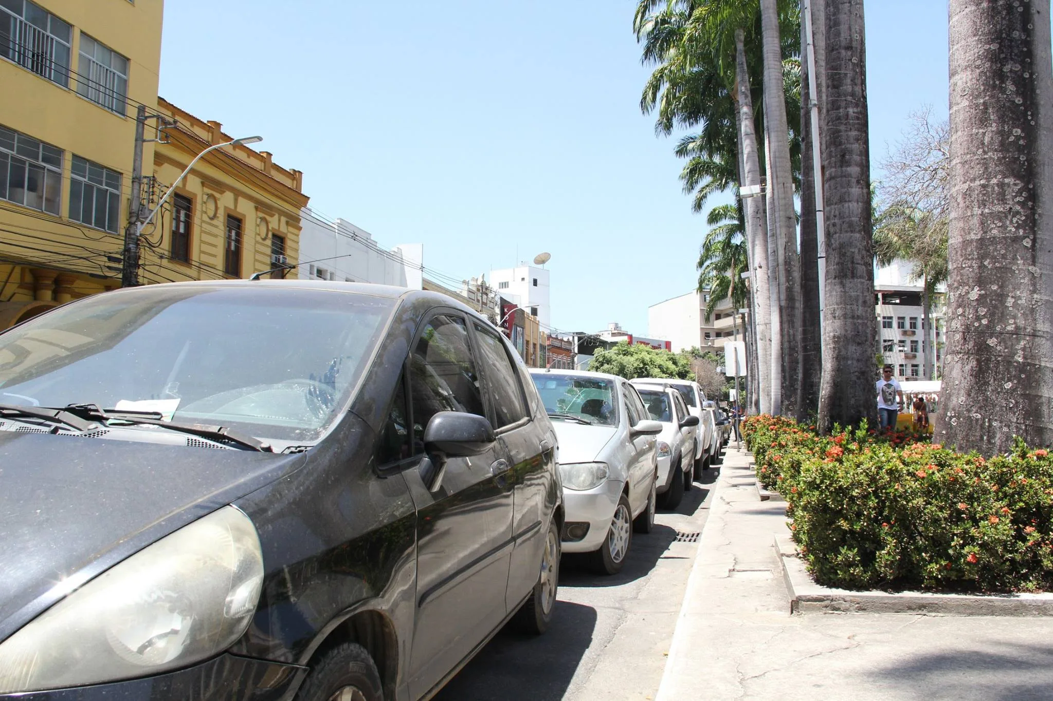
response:
<svg viewBox="0 0 1053 701"><path fill-rule="evenodd" d="M0 126L0 200L58 215L62 156L61 148Z"/></svg>

